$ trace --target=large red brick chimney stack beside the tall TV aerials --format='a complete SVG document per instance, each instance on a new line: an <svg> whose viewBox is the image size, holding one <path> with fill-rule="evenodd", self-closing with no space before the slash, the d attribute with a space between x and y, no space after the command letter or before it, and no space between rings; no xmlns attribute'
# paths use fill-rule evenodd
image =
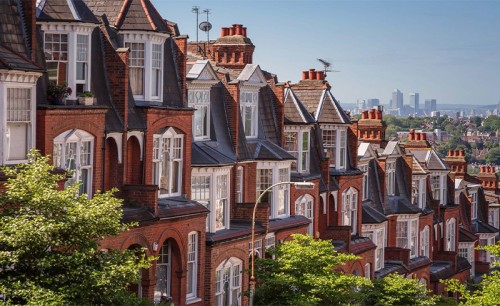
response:
<svg viewBox="0 0 500 306"><path fill-rule="evenodd" d="M217 66L243 69L246 64L253 63L255 46L247 37L247 28L241 24L223 27L211 49Z"/></svg>

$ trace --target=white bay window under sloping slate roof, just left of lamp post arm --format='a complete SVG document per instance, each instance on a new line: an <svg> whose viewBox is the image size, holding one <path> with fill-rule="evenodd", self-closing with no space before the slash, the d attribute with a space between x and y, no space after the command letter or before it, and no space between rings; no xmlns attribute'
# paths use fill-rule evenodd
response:
<svg viewBox="0 0 500 306"><path fill-rule="evenodd" d="M204 204L210 210L207 217L207 232L215 233L216 231L230 228L230 172L231 167L192 169L191 199L200 201L200 203ZM199 178L204 178L204 187L208 187L202 193L196 188L196 184L200 183ZM208 186L206 186L207 179ZM221 208L222 214L219 213Z"/></svg>

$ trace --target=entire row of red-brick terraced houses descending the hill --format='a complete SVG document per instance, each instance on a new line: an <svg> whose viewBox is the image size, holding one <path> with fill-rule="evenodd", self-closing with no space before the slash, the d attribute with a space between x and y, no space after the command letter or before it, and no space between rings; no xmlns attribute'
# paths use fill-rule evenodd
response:
<svg viewBox="0 0 500 306"><path fill-rule="evenodd" d="M279 82L240 24L197 44L150 0L3 0L0 16L0 164L36 148L89 197L117 187L139 226L101 247L157 256L132 288L142 297L245 305L250 254L293 233L358 255L346 273L436 294L495 260L475 249L499 234L494 168L468 175L463 151L443 160L425 133L387 141L382 110L353 120L323 71ZM73 89L63 105L51 82ZM266 193L252 250L256 198L290 181L315 187Z"/></svg>

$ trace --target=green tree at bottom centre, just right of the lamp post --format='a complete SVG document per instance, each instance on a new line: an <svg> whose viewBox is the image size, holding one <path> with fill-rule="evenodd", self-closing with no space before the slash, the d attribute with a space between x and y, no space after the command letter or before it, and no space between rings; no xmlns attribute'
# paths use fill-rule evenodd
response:
<svg viewBox="0 0 500 306"><path fill-rule="evenodd" d="M359 301L361 276L338 270L352 254L335 251L331 241L293 235L274 250L276 260L256 260L255 305L345 305Z"/></svg>

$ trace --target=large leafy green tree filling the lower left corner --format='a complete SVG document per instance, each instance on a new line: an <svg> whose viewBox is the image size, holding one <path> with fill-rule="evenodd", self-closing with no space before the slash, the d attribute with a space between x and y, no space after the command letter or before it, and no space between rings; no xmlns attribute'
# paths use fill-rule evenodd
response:
<svg viewBox="0 0 500 306"><path fill-rule="evenodd" d="M112 192L76 196L48 157L33 151L29 163L2 171L10 177L0 195L0 292L10 304L130 305L127 290L147 267L131 251L99 250L118 235L121 200Z"/></svg>

